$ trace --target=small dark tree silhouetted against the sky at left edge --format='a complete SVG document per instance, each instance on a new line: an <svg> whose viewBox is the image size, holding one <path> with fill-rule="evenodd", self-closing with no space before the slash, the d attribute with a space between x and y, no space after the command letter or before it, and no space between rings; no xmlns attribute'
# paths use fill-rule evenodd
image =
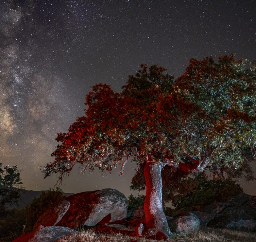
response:
<svg viewBox="0 0 256 242"><path fill-rule="evenodd" d="M16 204L20 198L20 170L17 166L5 166L0 163L0 209L4 212L8 204Z"/></svg>

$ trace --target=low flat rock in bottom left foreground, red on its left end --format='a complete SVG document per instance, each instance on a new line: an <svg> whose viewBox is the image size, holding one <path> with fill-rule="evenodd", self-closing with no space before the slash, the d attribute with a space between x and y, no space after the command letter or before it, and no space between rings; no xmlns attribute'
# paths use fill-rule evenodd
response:
<svg viewBox="0 0 256 242"><path fill-rule="evenodd" d="M60 226L40 226L37 230L27 233L13 240L13 242L53 242L66 235L78 233L78 231Z"/></svg>

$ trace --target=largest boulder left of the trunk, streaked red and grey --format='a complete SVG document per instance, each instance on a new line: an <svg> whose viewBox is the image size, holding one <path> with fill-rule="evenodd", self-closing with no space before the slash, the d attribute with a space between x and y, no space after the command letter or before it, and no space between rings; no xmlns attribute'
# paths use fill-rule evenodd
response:
<svg viewBox="0 0 256 242"><path fill-rule="evenodd" d="M119 223L126 217L127 206L124 194L115 189L73 194L46 210L36 221L33 230L39 225L74 228L79 225Z"/></svg>

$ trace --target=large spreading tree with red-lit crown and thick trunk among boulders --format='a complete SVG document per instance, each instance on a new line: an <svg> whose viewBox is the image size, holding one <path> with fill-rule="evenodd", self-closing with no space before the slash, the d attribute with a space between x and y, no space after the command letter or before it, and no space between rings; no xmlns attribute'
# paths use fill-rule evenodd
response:
<svg viewBox="0 0 256 242"><path fill-rule="evenodd" d="M218 63L192 59L176 81L157 65L141 68L121 93L106 84L92 87L85 116L58 134L55 161L43 172L62 179L76 163L89 171L111 171L122 163L122 174L129 159L136 162L146 184L147 231L168 239L162 169L168 166L169 174L238 169L247 162L245 147L255 155L256 74L234 55Z"/></svg>

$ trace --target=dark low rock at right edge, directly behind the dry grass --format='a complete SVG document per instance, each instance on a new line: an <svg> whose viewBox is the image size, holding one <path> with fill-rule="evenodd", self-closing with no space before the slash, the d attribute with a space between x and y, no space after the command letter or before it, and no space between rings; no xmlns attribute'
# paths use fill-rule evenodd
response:
<svg viewBox="0 0 256 242"><path fill-rule="evenodd" d="M242 214L218 214L208 223L209 227L214 228L231 228L236 230L254 231L256 229L256 221L250 215Z"/></svg>

